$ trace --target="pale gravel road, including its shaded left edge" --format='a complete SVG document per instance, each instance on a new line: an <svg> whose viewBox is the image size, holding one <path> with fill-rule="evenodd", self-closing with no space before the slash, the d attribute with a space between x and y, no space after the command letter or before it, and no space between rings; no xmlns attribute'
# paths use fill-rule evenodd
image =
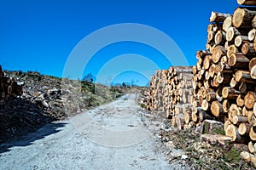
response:
<svg viewBox="0 0 256 170"><path fill-rule="evenodd" d="M172 169L137 94L0 144L1 169Z"/></svg>

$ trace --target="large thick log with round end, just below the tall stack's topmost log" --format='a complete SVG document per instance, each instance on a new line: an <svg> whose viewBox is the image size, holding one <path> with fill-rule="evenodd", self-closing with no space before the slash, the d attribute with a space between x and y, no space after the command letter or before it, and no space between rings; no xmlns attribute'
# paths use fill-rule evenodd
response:
<svg viewBox="0 0 256 170"><path fill-rule="evenodd" d="M247 8L236 8L232 18L233 26L236 28L250 28L255 15L256 11Z"/></svg>

